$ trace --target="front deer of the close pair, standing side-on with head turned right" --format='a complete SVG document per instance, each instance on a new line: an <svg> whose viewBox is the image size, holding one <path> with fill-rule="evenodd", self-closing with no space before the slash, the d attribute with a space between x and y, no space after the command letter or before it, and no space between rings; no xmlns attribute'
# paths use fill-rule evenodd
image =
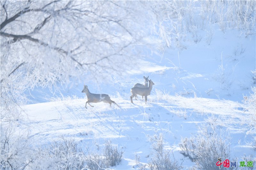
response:
<svg viewBox="0 0 256 170"><path fill-rule="evenodd" d="M146 87L146 88L133 87L131 89L131 93L132 93L131 103L133 103L133 101L132 101L133 97L135 97L137 95L140 95L140 96L145 96L145 100L146 100L146 104L147 104L148 95L150 95L150 92L151 92L152 87L154 85L153 81L151 81L151 80L148 80L148 81L149 81L149 86Z"/></svg>

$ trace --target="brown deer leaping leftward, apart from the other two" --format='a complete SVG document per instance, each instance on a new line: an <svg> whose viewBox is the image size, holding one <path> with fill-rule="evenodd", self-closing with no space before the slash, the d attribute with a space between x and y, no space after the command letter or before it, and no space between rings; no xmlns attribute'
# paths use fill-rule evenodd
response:
<svg viewBox="0 0 256 170"><path fill-rule="evenodd" d="M87 102L85 103L85 108L86 104L88 103L91 107L92 106L90 103L99 103L99 102L105 102L105 103L109 103L110 106L112 103L116 104L116 102L114 102L113 100L110 99L110 97L106 94L93 94L89 91L88 87L84 85L84 89L82 91L82 93L85 93L87 96ZM120 107L118 104L116 104L118 107Z"/></svg>

